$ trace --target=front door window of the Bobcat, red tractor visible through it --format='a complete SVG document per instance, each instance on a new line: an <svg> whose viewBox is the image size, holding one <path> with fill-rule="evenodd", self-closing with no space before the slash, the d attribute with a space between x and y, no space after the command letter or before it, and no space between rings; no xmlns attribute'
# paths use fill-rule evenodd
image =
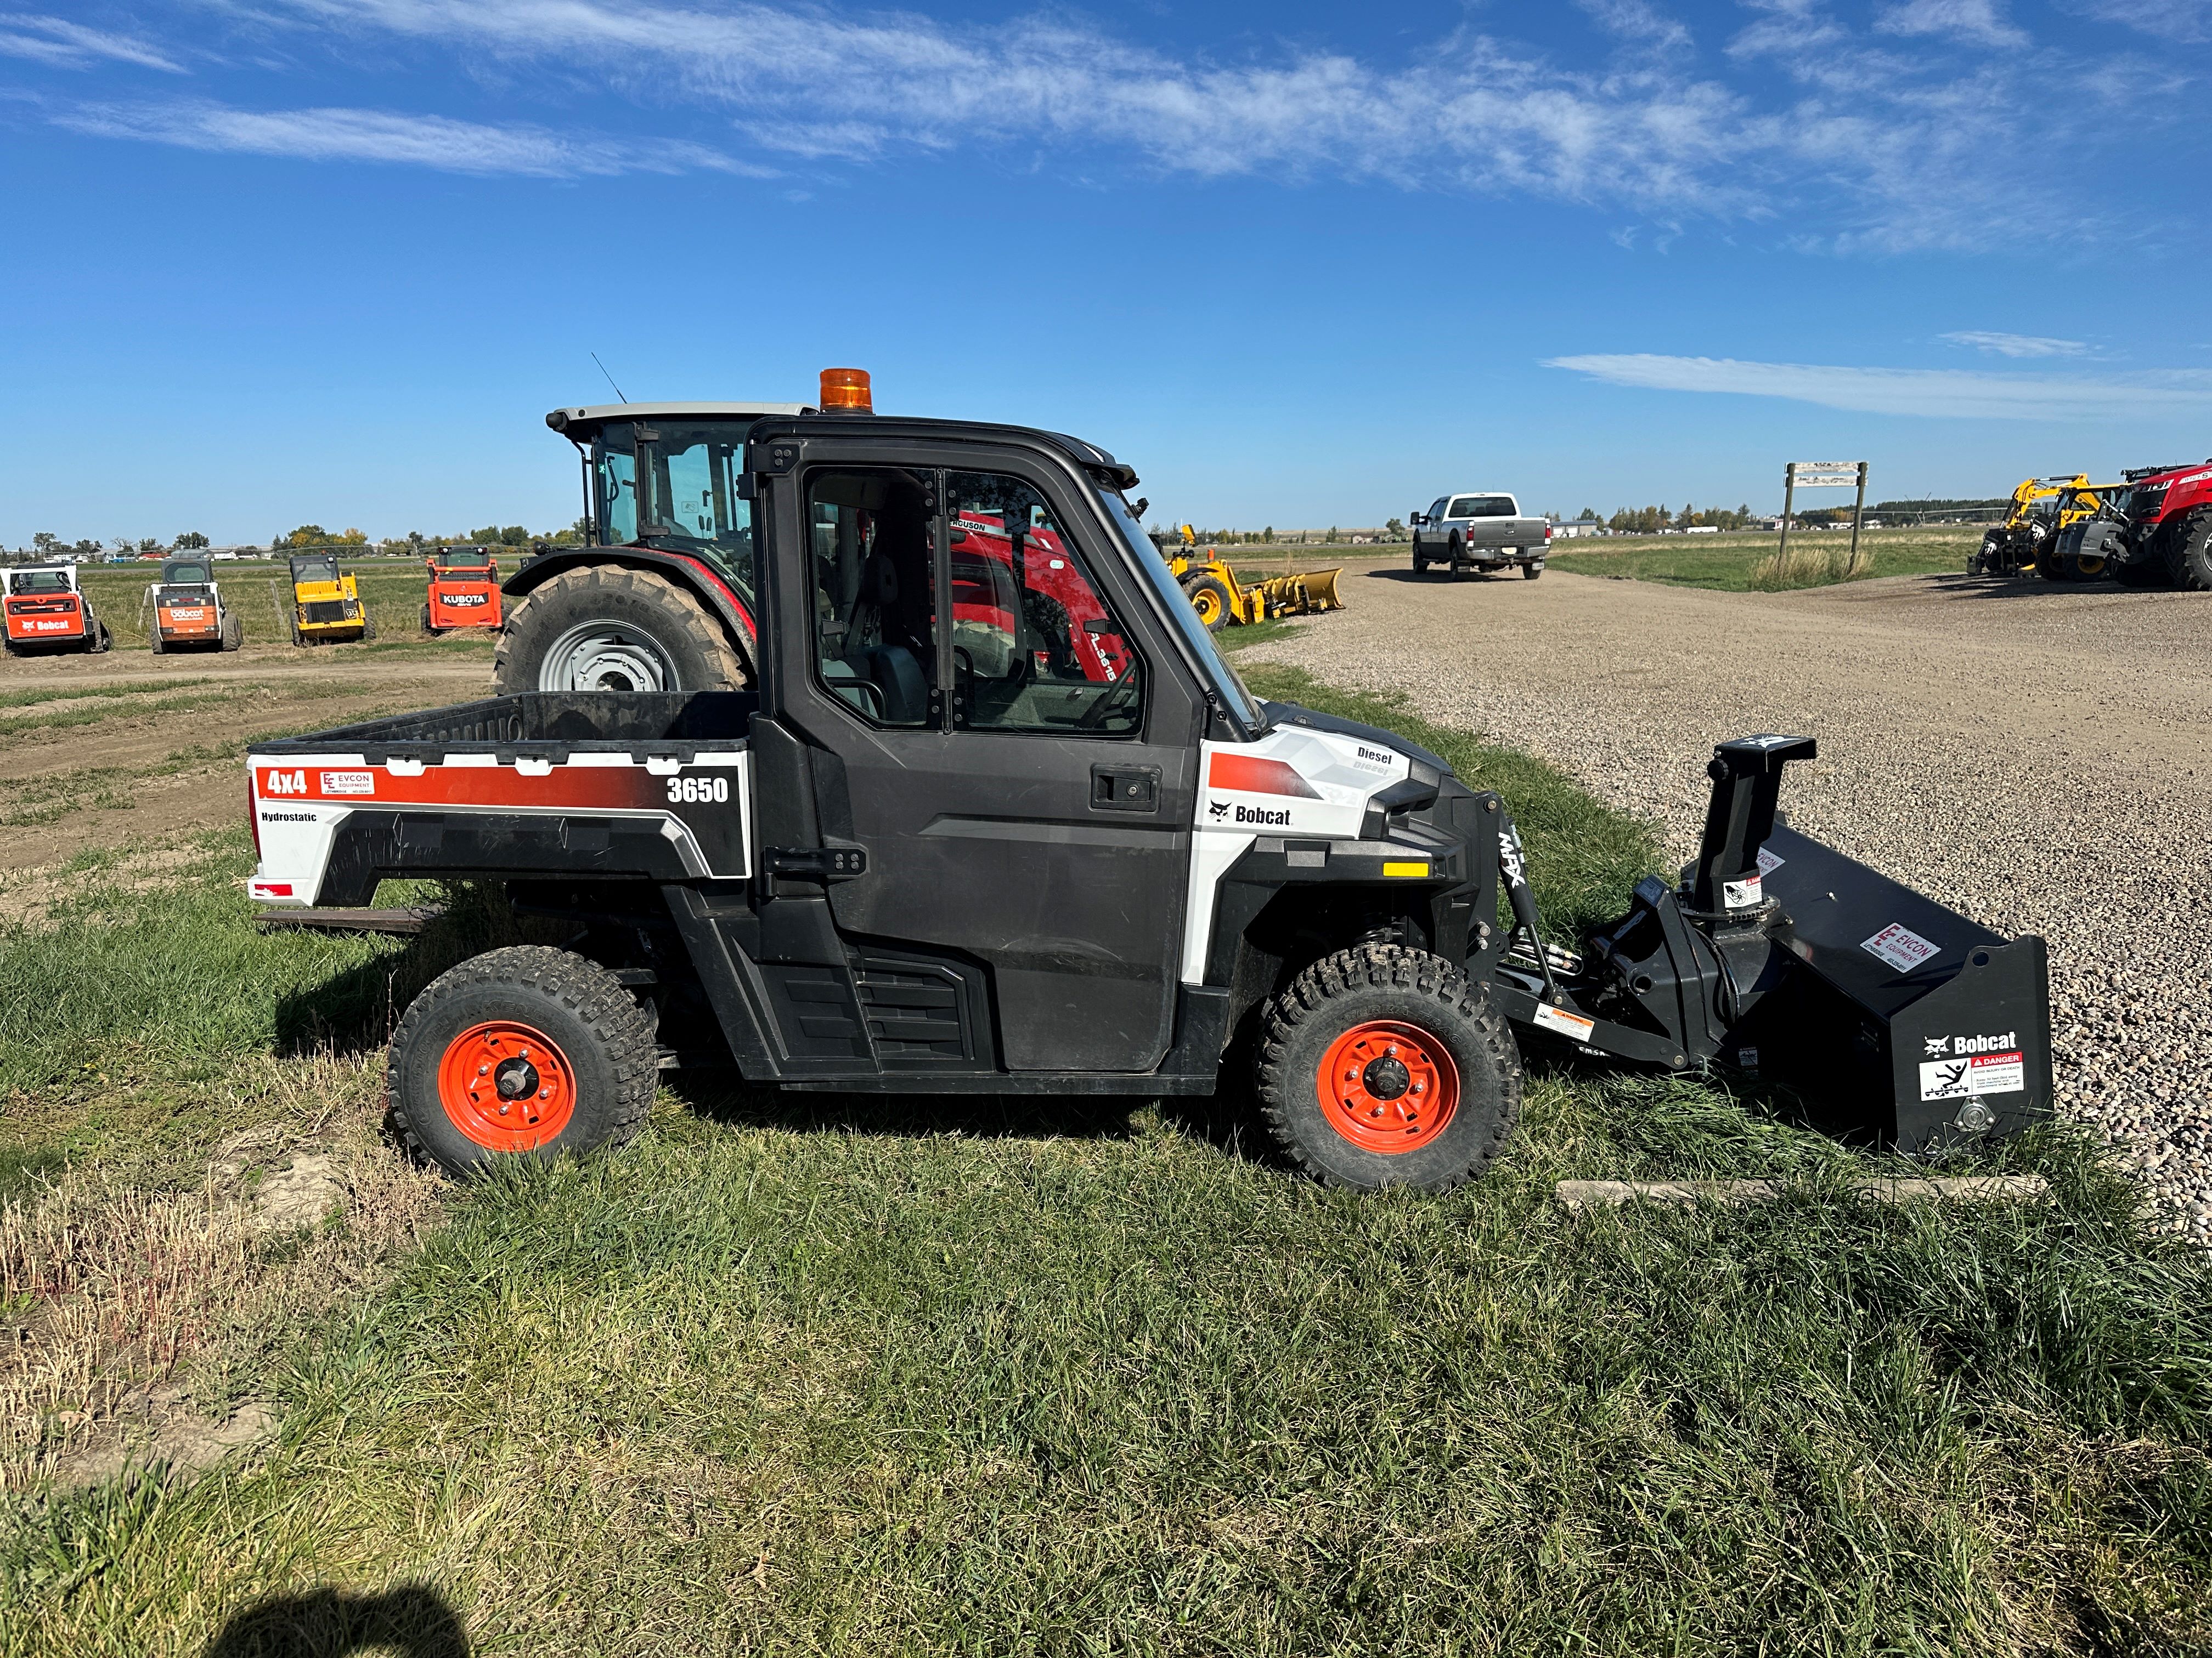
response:
<svg viewBox="0 0 2212 1658"><path fill-rule="evenodd" d="M1044 495L1006 473L945 473L953 723L1133 736L1144 661Z"/></svg>

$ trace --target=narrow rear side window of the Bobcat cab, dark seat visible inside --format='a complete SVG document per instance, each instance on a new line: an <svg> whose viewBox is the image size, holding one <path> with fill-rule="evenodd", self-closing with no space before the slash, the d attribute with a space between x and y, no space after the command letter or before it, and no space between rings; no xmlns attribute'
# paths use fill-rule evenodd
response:
<svg viewBox="0 0 2212 1658"><path fill-rule="evenodd" d="M936 473L900 466L807 475L814 674L872 725L931 723L933 491Z"/></svg>

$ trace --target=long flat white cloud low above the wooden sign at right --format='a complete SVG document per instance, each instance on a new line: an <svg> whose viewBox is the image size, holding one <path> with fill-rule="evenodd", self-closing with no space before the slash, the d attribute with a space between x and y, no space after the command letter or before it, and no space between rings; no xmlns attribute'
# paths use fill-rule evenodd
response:
<svg viewBox="0 0 2212 1658"><path fill-rule="evenodd" d="M1958 420L2112 420L2212 409L2212 374L2183 371L2135 380L1982 374L1973 369L1854 369L1820 363L1739 363L1710 356L1557 356L1606 385L1644 391L1728 391L1787 398L1823 409Z"/></svg>

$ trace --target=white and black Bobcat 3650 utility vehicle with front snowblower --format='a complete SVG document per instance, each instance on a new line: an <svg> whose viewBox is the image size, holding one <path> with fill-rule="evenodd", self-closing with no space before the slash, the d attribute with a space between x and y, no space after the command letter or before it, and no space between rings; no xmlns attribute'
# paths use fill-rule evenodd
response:
<svg viewBox="0 0 2212 1658"><path fill-rule="evenodd" d="M630 442L672 442L653 420ZM622 1141L686 1063L1250 1088L1356 1189L1482 1172L1522 1043L1759 1074L1907 1150L2051 1110L2042 940L1790 829L1812 738L1721 743L1697 860L1568 951L1498 794L1250 694L1106 451L752 416L717 475L757 537L752 688L524 690L248 752L257 902L358 924L380 880L489 880L566 940L462 962L400 1019L392 1119L447 1169ZM712 486L686 511L721 522Z"/></svg>

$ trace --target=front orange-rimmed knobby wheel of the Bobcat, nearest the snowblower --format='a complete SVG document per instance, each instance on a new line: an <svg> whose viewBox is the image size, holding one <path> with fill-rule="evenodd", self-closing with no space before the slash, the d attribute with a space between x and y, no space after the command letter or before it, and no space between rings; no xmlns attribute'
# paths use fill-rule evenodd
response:
<svg viewBox="0 0 2212 1658"><path fill-rule="evenodd" d="M1520 1079L1489 995L1427 951L1325 955L1261 1008L1261 1114L1329 1185L1451 1192L1506 1143Z"/></svg>

